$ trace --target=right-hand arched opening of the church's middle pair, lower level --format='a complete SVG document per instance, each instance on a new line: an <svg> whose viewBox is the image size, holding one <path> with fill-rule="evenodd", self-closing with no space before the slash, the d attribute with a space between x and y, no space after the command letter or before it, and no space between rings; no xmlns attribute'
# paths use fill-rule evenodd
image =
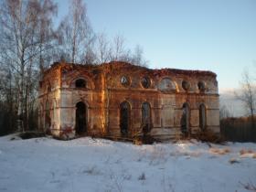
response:
<svg viewBox="0 0 256 192"><path fill-rule="evenodd" d="M142 105L142 128L144 135L150 133L151 131L151 112L150 104L144 102Z"/></svg>

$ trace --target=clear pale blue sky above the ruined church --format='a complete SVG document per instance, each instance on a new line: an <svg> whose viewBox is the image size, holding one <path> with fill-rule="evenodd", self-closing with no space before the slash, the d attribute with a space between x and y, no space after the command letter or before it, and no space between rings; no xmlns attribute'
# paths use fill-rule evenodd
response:
<svg viewBox="0 0 256 192"><path fill-rule="evenodd" d="M69 0L55 0L59 18ZM255 0L84 0L94 32L140 45L149 68L202 69L218 75L219 91L256 75Z"/></svg>

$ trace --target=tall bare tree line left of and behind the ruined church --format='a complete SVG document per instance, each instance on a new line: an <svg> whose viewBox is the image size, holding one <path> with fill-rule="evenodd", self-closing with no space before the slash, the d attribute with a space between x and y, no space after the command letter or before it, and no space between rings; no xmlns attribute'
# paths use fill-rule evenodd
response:
<svg viewBox="0 0 256 192"><path fill-rule="evenodd" d="M141 46L132 50L123 36L96 33L82 0L69 1L59 24L57 16L53 0L0 2L0 135L37 129L38 80L55 61L147 64Z"/></svg>

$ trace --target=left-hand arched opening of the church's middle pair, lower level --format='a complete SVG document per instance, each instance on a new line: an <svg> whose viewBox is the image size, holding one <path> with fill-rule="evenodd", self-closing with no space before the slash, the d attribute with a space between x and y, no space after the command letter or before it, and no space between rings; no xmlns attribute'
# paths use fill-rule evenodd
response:
<svg viewBox="0 0 256 192"><path fill-rule="evenodd" d="M128 136L131 125L131 107L129 102L120 104L120 132L122 136Z"/></svg>

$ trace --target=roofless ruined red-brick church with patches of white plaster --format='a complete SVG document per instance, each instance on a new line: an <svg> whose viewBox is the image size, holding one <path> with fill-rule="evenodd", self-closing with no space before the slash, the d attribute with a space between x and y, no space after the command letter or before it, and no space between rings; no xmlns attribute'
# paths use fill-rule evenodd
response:
<svg viewBox="0 0 256 192"><path fill-rule="evenodd" d="M38 103L39 128L61 139L219 133L218 81L211 71L57 62L39 82Z"/></svg>

